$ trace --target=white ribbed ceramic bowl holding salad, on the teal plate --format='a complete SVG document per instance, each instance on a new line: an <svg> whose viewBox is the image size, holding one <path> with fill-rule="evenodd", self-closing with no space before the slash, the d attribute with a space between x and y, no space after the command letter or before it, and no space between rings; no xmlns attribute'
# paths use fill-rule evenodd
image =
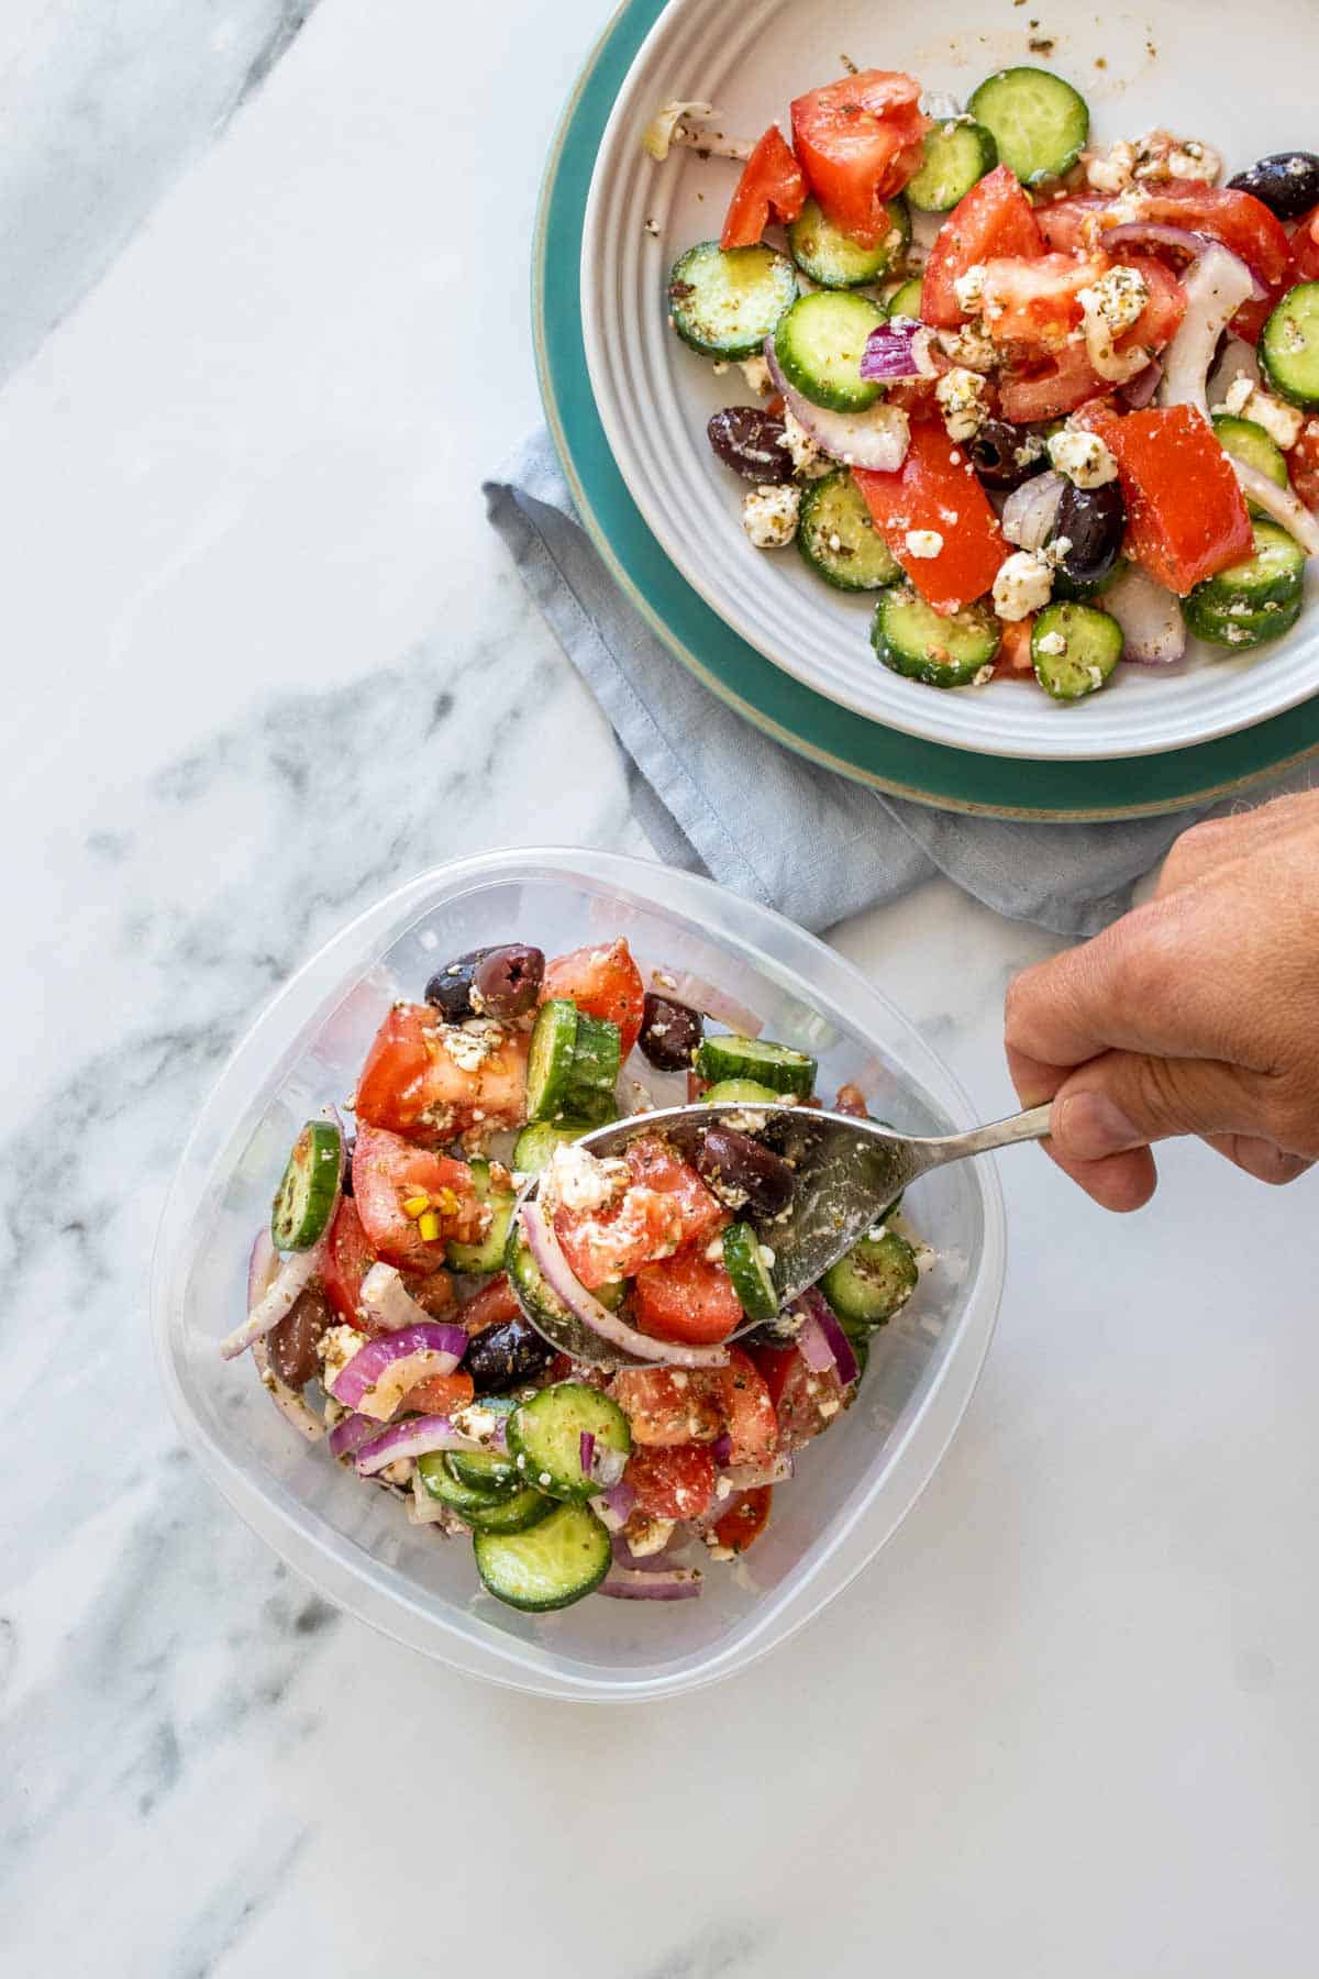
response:
<svg viewBox="0 0 1319 1979"><path fill-rule="evenodd" d="M1052 53L1028 51L1028 16ZM1159 0L1149 14L1096 14L1082 0L1009 8L927 0L914 8L856 0L672 0L619 91L605 131L581 241L585 354L599 414L637 507L682 576L744 639L785 673L890 728L995 756L1139 756L1248 728L1319 689L1319 621L1258 657L1192 649L1177 669L1121 667L1072 707L1030 681L937 693L882 667L868 639L874 600L831 592L795 552L753 550L740 483L706 441L718 406L753 394L666 325L664 281L692 241L718 236L736 180L726 160L672 152L655 164L641 133L660 103L704 99L722 123L757 137L787 125L787 105L831 81L840 53L860 67L910 69L959 99L1012 61L1076 83L1099 142L1171 125L1214 144L1236 172L1281 144L1315 139L1313 61L1299 59L1299 16L1285 0L1206 10ZM1279 49L1297 59L1279 59ZM1105 67L1096 63L1103 61Z"/></svg>

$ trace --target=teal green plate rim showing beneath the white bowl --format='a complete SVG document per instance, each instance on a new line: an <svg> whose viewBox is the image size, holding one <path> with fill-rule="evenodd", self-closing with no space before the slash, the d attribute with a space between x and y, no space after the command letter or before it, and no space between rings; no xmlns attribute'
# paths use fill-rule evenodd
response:
<svg viewBox="0 0 1319 1979"><path fill-rule="evenodd" d="M536 212L532 334L546 420L577 513L613 580L670 653L785 748L945 811L1040 823L1151 817L1232 796L1319 754L1319 697L1254 728L1159 756L1036 762L925 742L817 695L698 598L647 528L615 465L581 340L581 226L591 170L623 79L664 4L623 0L615 8L564 107Z"/></svg>

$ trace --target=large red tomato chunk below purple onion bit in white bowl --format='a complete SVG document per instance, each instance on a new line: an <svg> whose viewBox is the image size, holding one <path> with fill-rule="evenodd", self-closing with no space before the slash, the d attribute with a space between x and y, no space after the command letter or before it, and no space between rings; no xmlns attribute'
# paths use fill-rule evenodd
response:
<svg viewBox="0 0 1319 1979"><path fill-rule="evenodd" d="M912 427L896 475L854 467L852 479L884 542L935 612L959 612L991 590L1007 556L999 517L965 449L941 425ZM908 540L914 532L939 538L935 556L914 554Z"/></svg>

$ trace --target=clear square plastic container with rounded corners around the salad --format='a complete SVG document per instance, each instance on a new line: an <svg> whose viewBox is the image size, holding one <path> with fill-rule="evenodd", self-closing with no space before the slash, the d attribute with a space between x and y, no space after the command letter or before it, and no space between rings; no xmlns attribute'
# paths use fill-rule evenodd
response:
<svg viewBox="0 0 1319 1979"><path fill-rule="evenodd" d="M625 934L647 966L690 970L809 1047L821 1090L856 1079L914 1132L969 1126L953 1077L858 972L779 914L710 881L595 851L502 851L423 873L314 956L233 1053L170 1189L152 1322L170 1407L229 1504L330 1601L475 1676L542 1696L643 1700L712 1684L817 1615L890 1538L971 1399L1003 1290L1003 1199L989 1162L910 1191L935 1269L876 1336L856 1405L813 1443L740 1563L712 1563L700 1601L587 1599L518 1615L481 1591L471 1548L407 1524L308 1447L247 1358L218 1340L243 1308L251 1239L301 1122L352 1092L396 995L445 956L530 940L554 954ZM662 1079L649 1079L657 1098Z"/></svg>

